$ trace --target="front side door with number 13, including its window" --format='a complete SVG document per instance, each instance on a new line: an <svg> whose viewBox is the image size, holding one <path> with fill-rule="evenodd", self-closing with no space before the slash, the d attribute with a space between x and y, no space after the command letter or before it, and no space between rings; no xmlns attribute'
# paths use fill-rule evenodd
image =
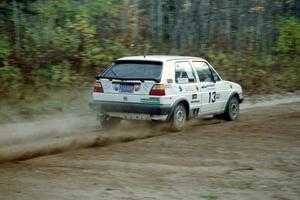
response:
<svg viewBox="0 0 300 200"><path fill-rule="evenodd" d="M221 85L215 82L210 66L204 61L192 61L199 78L199 92L201 94L200 114L217 113L220 111Z"/></svg>

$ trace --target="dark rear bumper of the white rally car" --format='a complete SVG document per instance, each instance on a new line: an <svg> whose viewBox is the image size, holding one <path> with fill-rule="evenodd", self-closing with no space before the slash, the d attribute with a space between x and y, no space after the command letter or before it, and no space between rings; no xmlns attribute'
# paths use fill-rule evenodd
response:
<svg viewBox="0 0 300 200"><path fill-rule="evenodd" d="M170 105L152 105L111 101L92 101L89 105L93 110L99 111L101 113L119 112L149 115L169 115L172 110L172 107Z"/></svg>

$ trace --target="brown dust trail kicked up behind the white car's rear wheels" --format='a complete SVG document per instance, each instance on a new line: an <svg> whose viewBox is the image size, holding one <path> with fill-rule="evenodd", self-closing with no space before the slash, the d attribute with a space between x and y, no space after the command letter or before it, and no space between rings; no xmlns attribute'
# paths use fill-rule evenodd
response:
<svg viewBox="0 0 300 200"><path fill-rule="evenodd" d="M0 127L0 162L26 160L78 148L129 142L166 133L166 124L122 121L111 131L102 130L95 117L64 116Z"/></svg>

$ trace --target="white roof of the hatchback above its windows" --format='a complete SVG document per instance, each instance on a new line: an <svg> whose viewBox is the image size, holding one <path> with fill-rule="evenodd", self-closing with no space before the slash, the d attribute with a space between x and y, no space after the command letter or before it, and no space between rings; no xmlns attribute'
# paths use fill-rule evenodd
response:
<svg viewBox="0 0 300 200"><path fill-rule="evenodd" d="M144 55L144 56L128 56L119 58L121 60L138 60L138 61L169 61L169 60L183 60L183 59L197 59L205 61L203 58L190 57L190 56L166 56L166 55Z"/></svg>

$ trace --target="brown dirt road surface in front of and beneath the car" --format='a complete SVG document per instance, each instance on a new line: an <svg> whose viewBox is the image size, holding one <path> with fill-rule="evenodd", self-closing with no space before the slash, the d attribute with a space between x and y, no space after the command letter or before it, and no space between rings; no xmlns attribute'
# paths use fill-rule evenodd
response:
<svg viewBox="0 0 300 200"><path fill-rule="evenodd" d="M300 103L192 120L182 133L152 126L118 134L155 137L0 164L0 199L300 199Z"/></svg>

